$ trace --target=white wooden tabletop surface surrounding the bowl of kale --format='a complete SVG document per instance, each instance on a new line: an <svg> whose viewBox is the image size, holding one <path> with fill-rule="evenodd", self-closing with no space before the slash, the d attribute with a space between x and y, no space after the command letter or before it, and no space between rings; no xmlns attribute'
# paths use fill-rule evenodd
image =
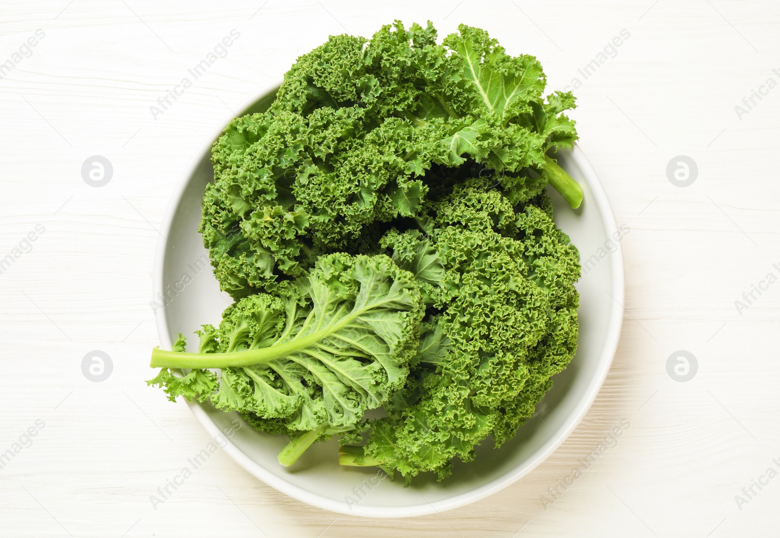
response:
<svg viewBox="0 0 780 538"><path fill-rule="evenodd" d="M0 274L0 452L37 419L34 444L0 470L2 536L771 536L780 478L737 506L780 461L780 283L735 301L780 266L780 5L727 2L9 2L0 62L45 37L0 80L0 257L45 232ZM258 9L260 9L258 11ZM296 56L392 19L440 36L483 27L537 55L549 88L574 77L574 114L623 241L626 317L615 363L586 419L502 492L441 515L371 520L310 508L221 451L154 510L150 495L209 441L186 405L147 388L158 344L151 270L168 198L213 129ZM150 106L236 29L240 37L164 114ZM587 80L577 72L626 29ZM752 105L751 105L752 106ZM80 168L114 168L101 188ZM698 176L666 177L687 155ZM99 349L108 380L81 371ZM679 349L693 380L668 375ZM546 507L617 426L630 427Z"/></svg>

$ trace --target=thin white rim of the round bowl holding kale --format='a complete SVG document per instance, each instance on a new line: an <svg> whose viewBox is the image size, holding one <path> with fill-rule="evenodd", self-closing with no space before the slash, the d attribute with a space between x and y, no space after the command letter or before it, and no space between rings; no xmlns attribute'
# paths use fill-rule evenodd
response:
<svg viewBox="0 0 780 538"><path fill-rule="evenodd" d="M165 251L168 246L168 235L171 232L171 227L176 218L176 210L179 207L186 187L189 185L190 179L192 178L197 166L200 164L200 161L203 160L207 152L211 151L212 144L215 142L215 140L217 140L218 136L222 133L222 131L229 124L229 122L232 121L233 118L246 114L246 111L248 111L254 104L256 104L257 101L260 101L264 97L268 97L268 94L275 94L275 92L278 90L278 86L281 83L281 80L277 80L275 83L269 84L263 90L258 91L257 94L254 94L254 96L247 99L242 104L242 106L237 109L239 110L239 114L231 114L227 119L223 120L218 126L218 129L215 129L208 136L207 140L201 144L200 148L193 155L193 158L190 159L189 164L186 166L183 174L179 178L179 182L171 193L170 199L168 200L168 207L165 209L163 221L159 230L160 233L158 235L157 248L154 254L152 286L154 297L158 296L158 292L162 292L164 289L163 275L165 274ZM587 178L587 183L590 187L590 194L593 197L594 203L600 209L601 224L604 225L605 232L607 235L612 235L613 233L618 232L617 222L615 221L615 214L612 211L611 204L609 204L604 186L601 184L601 180L596 175L594 168L590 165L590 162L587 160L579 144L574 144L574 147L569 154L569 158L573 159L576 165L583 172L583 175ZM246 471L248 471L250 474L254 475L269 486L274 487L276 490L317 508L323 508L324 510L345 515L359 515L373 518L402 518L417 515L429 515L439 513L441 511L451 510L452 508L458 508L465 504L470 504L474 501L479 501L484 497L488 497L489 495L496 493L498 490L502 490L505 487L508 487L510 484L521 479L527 473L530 473L530 471L535 469L537 465L539 465L546 458L548 458L549 455L557 450L558 447L563 444L563 441L566 441L566 438L572 434L573 430L580 424L584 416L587 414L590 406L593 405L598 392L601 390L601 385L604 384L609 369L612 366L612 360L615 357L615 352L617 350L620 338L620 331L622 328L622 318L624 313L623 301L625 295L622 246L620 242L615 242L615 246L616 250L612 253L608 260L613 275L611 289L609 292L612 294L618 306L612 310L612 316L608 322L608 331L605 337L605 344L601 350L601 356L598 361L597 375L595 375L590 380L590 384L585 391L584 397L580 398L580 404L578 406L579 411L576 412L576 414L567 417L565 427L563 427L562 430L555 431L555 435L551 436L550 441L534 452L530 458L527 458L523 463L517 465L514 469L498 477L497 479L492 480L491 482L473 490L469 490L465 493L458 494L441 501L434 501L432 503L424 501L420 504L380 508L356 504L350 507L352 508L351 510L347 511L344 504L339 501L328 499L318 494L314 494L308 490L304 490L303 488L298 487L293 483L287 482L282 477L268 472L268 470L257 464L257 462L254 462L254 460L250 458L250 456L246 455L238 446L236 446L236 444L233 444L232 441L225 439L225 437L221 437L223 440L222 444L225 452L234 461L236 461L236 463L241 465L243 469L246 469ZM172 339L171 334L168 333L167 316L167 310L161 309L158 311L158 315L155 317L155 322L157 324L161 345L165 346L166 348L170 348L172 345ZM217 425L211 420L211 418L207 415L207 412L205 412L200 404L197 402L187 402L187 405L190 407L190 411L197 418L198 422L200 422L200 425L204 427L204 429L211 437L218 438L218 436L222 434Z"/></svg>

